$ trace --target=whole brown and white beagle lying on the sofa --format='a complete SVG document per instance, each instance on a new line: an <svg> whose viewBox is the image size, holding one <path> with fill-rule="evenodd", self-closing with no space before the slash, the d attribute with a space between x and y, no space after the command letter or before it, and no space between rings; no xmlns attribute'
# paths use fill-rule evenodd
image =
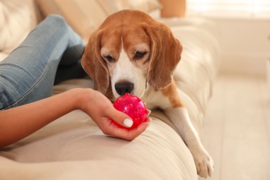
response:
<svg viewBox="0 0 270 180"><path fill-rule="evenodd" d="M213 159L201 144L173 80L182 49L164 24L145 12L122 10L91 34L82 66L93 78L94 89L107 98L130 93L143 98L147 109L163 109L192 153L199 176L209 177Z"/></svg>

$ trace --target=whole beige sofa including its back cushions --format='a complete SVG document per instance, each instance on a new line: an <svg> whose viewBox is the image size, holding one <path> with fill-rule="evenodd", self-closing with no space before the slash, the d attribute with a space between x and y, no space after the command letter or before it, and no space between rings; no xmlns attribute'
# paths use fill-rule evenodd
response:
<svg viewBox="0 0 270 180"><path fill-rule="evenodd" d="M183 44L174 79L200 133L219 67L219 30L212 21L183 13L161 17L165 6L156 0L0 0L0 61L51 13L62 15L87 43L111 13L143 10L170 26ZM67 80L55 85L53 94L75 87L93 87L93 81ZM125 141L102 134L87 114L72 111L2 148L0 179L198 179L192 155L174 125L161 110L152 111L150 117L143 134Z"/></svg>

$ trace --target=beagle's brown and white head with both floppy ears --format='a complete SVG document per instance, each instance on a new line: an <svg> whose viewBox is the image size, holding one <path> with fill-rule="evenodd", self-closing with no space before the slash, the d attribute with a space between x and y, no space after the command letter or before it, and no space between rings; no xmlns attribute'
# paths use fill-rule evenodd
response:
<svg viewBox="0 0 270 180"><path fill-rule="evenodd" d="M115 98L143 96L147 85L163 89L181 57L182 46L170 28L144 12L122 10L109 16L91 34L82 66L94 89Z"/></svg>

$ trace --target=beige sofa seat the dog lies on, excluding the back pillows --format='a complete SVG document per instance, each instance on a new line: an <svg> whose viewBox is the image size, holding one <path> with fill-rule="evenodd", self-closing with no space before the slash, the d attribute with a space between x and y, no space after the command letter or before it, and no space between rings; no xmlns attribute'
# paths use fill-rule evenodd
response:
<svg viewBox="0 0 270 180"><path fill-rule="evenodd" d="M191 21L192 19L190 19ZM172 27L184 47L174 80L192 123L201 129L219 64L219 42L208 21ZM89 79L57 84L54 93L93 87ZM161 111L134 141L102 134L82 111L72 111L0 151L6 179L197 179L192 154ZM14 173L16 172L16 173Z"/></svg>

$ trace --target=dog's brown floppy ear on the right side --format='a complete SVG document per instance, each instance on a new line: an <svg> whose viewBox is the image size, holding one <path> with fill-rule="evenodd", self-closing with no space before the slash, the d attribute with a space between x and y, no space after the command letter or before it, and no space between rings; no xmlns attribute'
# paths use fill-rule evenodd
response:
<svg viewBox="0 0 270 180"><path fill-rule="evenodd" d="M183 48L164 24L152 21L143 24L143 28L151 42L147 80L155 89L163 89L172 83L174 69L180 61Z"/></svg>

